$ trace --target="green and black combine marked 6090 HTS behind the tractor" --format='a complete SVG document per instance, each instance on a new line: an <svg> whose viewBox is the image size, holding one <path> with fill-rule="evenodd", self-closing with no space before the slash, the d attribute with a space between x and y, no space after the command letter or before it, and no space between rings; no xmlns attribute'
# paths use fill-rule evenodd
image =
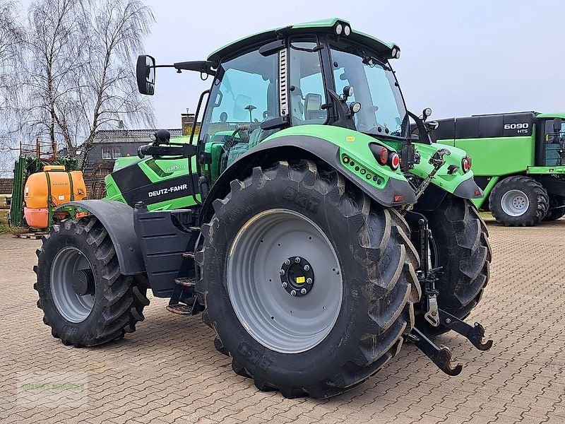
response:
<svg viewBox="0 0 565 424"><path fill-rule="evenodd" d="M515 112L440 119L437 143L462 148L484 197L473 199L503 225L531 226L565 214L565 114Z"/></svg>

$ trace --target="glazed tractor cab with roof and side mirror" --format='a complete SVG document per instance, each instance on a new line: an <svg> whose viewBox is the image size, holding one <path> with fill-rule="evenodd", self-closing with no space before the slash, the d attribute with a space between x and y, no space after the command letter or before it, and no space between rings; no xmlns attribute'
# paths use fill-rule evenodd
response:
<svg viewBox="0 0 565 424"><path fill-rule="evenodd" d="M363 133L400 148L409 116L389 63L399 57L393 43L332 19L268 30L222 47L206 61L172 65L213 78L198 103L197 116L201 107L204 112L192 141L198 146L199 192L206 196L238 158L291 127L340 126L351 139ZM153 94L156 67L152 57L138 60L141 93Z"/></svg>

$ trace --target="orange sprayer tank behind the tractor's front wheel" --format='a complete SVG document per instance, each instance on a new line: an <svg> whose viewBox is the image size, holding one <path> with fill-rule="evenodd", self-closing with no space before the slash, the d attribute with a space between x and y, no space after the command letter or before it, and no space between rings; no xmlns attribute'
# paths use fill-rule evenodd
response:
<svg viewBox="0 0 565 424"><path fill-rule="evenodd" d="M85 197L81 171L66 172L63 165L45 166L43 172L30 175L25 182L25 220L32 228L47 228L49 208Z"/></svg>

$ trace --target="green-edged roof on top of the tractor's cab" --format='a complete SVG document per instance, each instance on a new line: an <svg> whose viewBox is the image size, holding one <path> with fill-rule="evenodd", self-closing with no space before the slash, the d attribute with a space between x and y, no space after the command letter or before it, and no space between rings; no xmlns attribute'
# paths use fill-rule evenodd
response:
<svg viewBox="0 0 565 424"><path fill-rule="evenodd" d="M277 40L278 36L280 35L288 35L292 33L334 33L335 25L337 25L338 22L350 25L347 20L331 18L314 20L313 22L307 23L298 23L296 25L289 25L283 28L275 28L262 31L261 33L256 33L254 35L248 35L247 37L240 38L239 40L231 42L229 45L225 45L224 47L221 47L220 49L211 53L210 56L208 56L208 60L220 61L220 59L222 59L223 57L231 56L238 50L244 49L245 47L252 45L261 45L265 44L266 42ZM359 44L366 45L367 47L379 53L390 52L393 47L396 47L398 49L398 46L396 46L394 43L383 42L378 38L354 30L353 28L351 28L350 35L344 35L343 37L347 37L347 39L355 41Z"/></svg>

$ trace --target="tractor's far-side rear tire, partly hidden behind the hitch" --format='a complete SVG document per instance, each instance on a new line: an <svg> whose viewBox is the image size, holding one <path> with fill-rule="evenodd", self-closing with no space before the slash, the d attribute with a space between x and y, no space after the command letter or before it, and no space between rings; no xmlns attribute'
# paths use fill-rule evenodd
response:
<svg viewBox="0 0 565 424"><path fill-rule="evenodd" d="M446 195L439 208L425 213L435 241L434 266L442 266L436 288L438 306L464 319L480 301L489 282L491 248L489 232L477 208L466 199ZM434 327L422 315L418 329L429 336L448 331Z"/></svg>

